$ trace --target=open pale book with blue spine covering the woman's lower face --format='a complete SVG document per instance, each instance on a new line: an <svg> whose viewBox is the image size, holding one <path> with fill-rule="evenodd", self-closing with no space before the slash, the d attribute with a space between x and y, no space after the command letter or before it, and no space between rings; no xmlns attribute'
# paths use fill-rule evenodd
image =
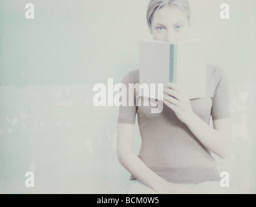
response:
<svg viewBox="0 0 256 207"><path fill-rule="evenodd" d="M139 53L140 85L155 83L157 93L159 83L165 86L172 82L190 99L205 96L204 41L191 40L173 44L164 41L140 41ZM141 96L150 97L150 93Z"/></svg>

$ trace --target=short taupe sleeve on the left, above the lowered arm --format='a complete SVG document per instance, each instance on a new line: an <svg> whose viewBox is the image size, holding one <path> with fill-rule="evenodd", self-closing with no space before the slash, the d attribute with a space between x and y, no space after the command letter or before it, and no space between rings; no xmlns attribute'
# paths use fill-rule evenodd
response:
<svg viewBox="0 0 256 207"><path fill-rule="evenodd" d="M122 84L127 89L125 93L121 91L122 97L126 97L126 106L119 107L118 124L135 124L136 122L136 90L129 92L129 84L135 85L138 79L138 70L127 73L122 80ZM123 95L124 94L124 95ZM133 103L133 104L129 104Z"/></svg>

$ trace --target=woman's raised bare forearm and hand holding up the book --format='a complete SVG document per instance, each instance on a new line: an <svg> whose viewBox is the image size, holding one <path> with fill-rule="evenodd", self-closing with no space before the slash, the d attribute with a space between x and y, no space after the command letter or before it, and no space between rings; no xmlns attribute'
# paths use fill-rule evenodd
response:
<svg viewBox="0 0 256 207"><path fill-rule="evenodd" d="M214 128L207 125L191 109L190 100L179 91L177 85L168 83L164 89L164 103L170 107L190 131L207 149L221 158L231 151L231 121L229 118L214 120Z"/></svg>

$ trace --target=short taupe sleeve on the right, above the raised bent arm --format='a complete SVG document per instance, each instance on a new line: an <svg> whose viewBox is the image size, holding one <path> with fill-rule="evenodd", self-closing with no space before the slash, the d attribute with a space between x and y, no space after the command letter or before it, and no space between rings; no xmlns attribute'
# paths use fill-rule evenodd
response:
<svg viewBox="0 0 256 207"><path fill-rule="evenodd" d="M229 81L227 74L218 67L214 71L214 95L211 114L212 120L230 118Z"/></svg>

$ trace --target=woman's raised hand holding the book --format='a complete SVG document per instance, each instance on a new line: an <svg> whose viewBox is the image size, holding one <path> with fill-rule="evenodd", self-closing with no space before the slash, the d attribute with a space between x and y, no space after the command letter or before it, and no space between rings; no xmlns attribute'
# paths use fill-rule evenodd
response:
<svg viewBox="0 0 256 207"><path fill-rule="evenodd" d="M177 118L183 123L189 123L196 115L192 111L190 100L186 97L177 85L174 83L167 83L164 88L164 103L173 110Z"/></svg>

